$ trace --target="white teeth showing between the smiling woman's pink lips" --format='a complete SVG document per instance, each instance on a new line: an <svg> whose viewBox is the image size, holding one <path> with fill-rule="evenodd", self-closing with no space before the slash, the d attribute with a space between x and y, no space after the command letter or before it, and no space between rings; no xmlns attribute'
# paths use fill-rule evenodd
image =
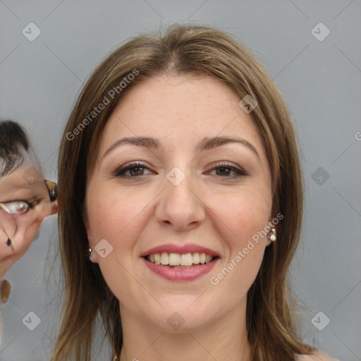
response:
<svg viewBox="0 0 361 361"><path fill-rule="evenodd" d="M187 269L202 266L202 264L209 264L219 257L199 252L185 254L162 252L146 255L144 258L153 264L159 264L173 269Z"/></svg>

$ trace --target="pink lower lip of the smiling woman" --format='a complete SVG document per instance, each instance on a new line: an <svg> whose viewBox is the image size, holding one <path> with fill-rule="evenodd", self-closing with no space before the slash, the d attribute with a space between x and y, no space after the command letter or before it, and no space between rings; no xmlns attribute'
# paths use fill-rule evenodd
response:
<svg viewBox="0 0 361 361"><path fill-rule="evenodd" d="M143 260L151 271L164 279L169 281L193 281L211 271L218 262L219 258L214 259L214 261L209 262L208 264L202 264L191 268L170 268L162 266L161 264L154 264L147 261L145 258L143 258Z"/></svg>

